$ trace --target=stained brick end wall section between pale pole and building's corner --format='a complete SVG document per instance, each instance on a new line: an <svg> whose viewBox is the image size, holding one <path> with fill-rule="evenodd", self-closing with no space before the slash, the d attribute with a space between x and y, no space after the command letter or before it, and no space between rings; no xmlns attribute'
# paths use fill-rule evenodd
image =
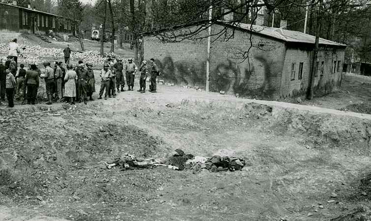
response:
<svg viewBox="0 0 371 221"><path fill-rule="evenodd" d="M215 26L213 32L220 32L222 28ZM228 30L227 36L232 34L231 31ZM223 90L230 94L266 99L280 95L285 44L253 34L253 47L250 48L250 45L250 33L240 30L235 30L228 41L222 37L213 42L210 54L211 91Z"/></svg>

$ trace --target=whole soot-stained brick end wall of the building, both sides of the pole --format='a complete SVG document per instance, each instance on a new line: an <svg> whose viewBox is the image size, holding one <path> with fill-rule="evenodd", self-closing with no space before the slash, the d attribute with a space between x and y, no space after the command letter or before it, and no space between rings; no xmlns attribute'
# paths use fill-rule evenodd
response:
<svg viewBox="0 0 371 221"><path fill-rule="evenodd" d="M213 25L213 33L222 31ZM232 30L228 30L227 36ZM207 36L201 32L199 36ZM274 98L280 95L281 73L285 45L282 42L235 30L228 41L222 36L212 38L210 49L210 90L239 93L247 96ZM198 41L184 40L178 43L161 43L156 37L144 37L144 59L151 57L162 69L166 81L205 87L206 38Z"/></svg>

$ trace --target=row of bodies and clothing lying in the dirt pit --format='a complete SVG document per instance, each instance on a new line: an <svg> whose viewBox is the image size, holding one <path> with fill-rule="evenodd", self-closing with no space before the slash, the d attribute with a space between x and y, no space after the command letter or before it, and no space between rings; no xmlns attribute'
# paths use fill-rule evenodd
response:
<svg viewBox="0 0 371 221"><path fill-rule="evenodd" d="M221 157L217 155L211 158L205 158L185 154L181 149L176 149L174 154L166 160L156 160L153 158L141 159L126 154L121 158L116 158L112 163L105 164L108 169L114 166L120 166L123 170L167 166L174 170L190 169L193 170L193 173L197 173L202 169L207 169L211 172L241 170L246 165L246 161L236 157Z"/></svg>

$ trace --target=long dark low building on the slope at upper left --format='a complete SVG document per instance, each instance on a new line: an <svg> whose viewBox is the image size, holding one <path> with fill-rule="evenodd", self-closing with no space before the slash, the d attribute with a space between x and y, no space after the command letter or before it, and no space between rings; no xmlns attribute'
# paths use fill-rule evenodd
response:
<svg viewBox="0 0 371 221"><path fill-rule="evenodd" d="M38 11L34 8L0 3L0 31L45 34L52 30L57 34L76 35L76 20Z"/></svg>

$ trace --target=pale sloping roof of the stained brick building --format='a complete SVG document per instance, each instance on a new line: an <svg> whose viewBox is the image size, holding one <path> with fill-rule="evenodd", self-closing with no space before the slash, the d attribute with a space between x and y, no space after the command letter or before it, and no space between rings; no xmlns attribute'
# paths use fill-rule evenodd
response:
<svg viewBox="0 0 371 221"><path fill-rule="evenodd" d="M282 28L270 28L270 27L264 27L264 26L257 26L245 23L230 23L230 22L218 22L222 25L230 25L237 28L242 28L244 30L249 30L255 33L260 33L262 35L266 35L269 37L273 37L276 39L280 39L285 42L291 42L291 43L307 43L307 44L314 44L315 43L315 36L310 34L305 34L300 31L293 31L293 30L287 30ZM340 44L335 41L330 41L324 38L319 38L319 44L320 45L333 45L333 46L341 46L346 47L344 44Z"/></svg>

